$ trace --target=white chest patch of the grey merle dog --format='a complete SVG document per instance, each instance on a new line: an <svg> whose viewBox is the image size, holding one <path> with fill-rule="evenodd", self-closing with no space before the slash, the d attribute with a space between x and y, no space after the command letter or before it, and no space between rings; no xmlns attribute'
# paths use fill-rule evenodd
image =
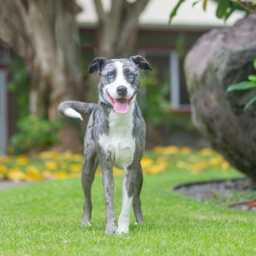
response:
<svg viewBox="0 0 256 256"><path fill-rule="evenodd" d="M133 161L135 140L132 136L134 104L125 114L111 110L109 114L109 134L100 137L100 146L111 153L114 165L125 169Z"/></svg>

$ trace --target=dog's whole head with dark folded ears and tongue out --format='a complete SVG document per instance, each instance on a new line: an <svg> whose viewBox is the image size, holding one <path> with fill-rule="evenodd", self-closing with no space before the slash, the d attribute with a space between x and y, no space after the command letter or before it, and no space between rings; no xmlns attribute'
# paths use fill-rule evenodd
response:
<svg viewBox="0 0 256 256"><path fill-rule="evenodd" d="M139 55L129 59L94 58L89 73L97 72L100 75L99 93L103 102L111 104L117 113L126 113L140 88L141 69L152 70Z"/></svg>

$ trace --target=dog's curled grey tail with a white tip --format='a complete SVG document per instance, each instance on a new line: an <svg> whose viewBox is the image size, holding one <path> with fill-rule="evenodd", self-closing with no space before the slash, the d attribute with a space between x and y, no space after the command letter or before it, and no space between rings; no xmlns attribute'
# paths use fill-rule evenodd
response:
<svg viewBox="0 0 256 256"><path fill-rule="evenodd" d="M95 103L86 103L81 101L63 101L60 103L58 110L65 116L79 118L83 120L80 113L91 114L93 109L97 106Z"/></svg>

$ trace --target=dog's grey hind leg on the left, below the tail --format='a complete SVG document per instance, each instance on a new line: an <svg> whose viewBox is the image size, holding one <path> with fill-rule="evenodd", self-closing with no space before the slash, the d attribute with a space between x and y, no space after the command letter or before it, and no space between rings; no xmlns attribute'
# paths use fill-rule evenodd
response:
<svg viewBox="0 0 256 256"><path fill-rule="evenodd" d="M84 139L84 163L82 170L82 187L84 190L84 212L81 224L84 226L90 226L92 213L91 188L97 166L98 158L94 146L92 125L90 125L89 121Z"/></svg>

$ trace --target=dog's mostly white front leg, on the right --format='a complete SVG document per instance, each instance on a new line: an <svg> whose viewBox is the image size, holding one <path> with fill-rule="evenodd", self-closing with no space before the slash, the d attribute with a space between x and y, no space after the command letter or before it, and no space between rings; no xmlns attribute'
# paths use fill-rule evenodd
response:
<svg viewBox="0 0 256 256"><path fill-rule="evenodd" d="M137 178L137 171L131 166L124 170L122 209L118 219L118 234L129 232L130 213L133 201L134 187Z"/></svg>

